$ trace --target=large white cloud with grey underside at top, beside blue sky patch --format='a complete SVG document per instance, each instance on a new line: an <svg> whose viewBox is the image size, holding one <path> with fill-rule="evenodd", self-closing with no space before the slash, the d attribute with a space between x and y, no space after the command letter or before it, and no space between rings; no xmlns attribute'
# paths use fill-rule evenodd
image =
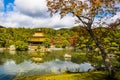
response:
<svg viewBox="0 0 120 80"><path fill-rule="evenodd" d="M15 0L14 4L21 13L32 17L46 17L46 0Z"/></svg>

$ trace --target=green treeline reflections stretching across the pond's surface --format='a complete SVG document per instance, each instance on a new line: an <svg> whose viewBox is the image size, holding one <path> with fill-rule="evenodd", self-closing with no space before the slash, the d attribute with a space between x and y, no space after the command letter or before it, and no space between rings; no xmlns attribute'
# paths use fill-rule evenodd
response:
<svg viewBox="0 0 120 80"><path fill-rule="evenodd" d="M97 53L97 52L96 52ZM72 55L71 61L77 64L84 62L89 62L95 67L101 67L103 60L99 55L96 55L95 52L88 52L87 55L84 51L74 52L74 50L56 50L50 53L45 53L45 55L40 56L43 58L44 62L51 60L62 60L64 61L64 54ZM14 60L16 64L20 64L25 60L30 60L31 56L28 52L16 52L15 54L10 54L8 51L0 53L0 65L3 65L6 60ZM38 53L40 55L40 53ZM112 59L113 60L113 59ZM115 60L114 60L114 64Z"/></svg>

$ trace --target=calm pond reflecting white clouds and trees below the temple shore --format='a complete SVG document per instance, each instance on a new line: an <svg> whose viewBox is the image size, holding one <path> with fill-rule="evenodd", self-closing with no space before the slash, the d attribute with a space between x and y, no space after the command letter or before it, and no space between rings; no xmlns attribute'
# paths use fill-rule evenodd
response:
<svg viewBox="0 0 120 80"><path fill-rule="evenodd" d="M75 54L74 51L54 50L41 55L39 52L0 52L0 80L12 80L14 77L61 74L65 71L85 72L93 69L91 64L74 58L64 59L64 54ZM42 62L33 61L33 57L42 58ZM77 59L76 59L77 60Z"/></svg>

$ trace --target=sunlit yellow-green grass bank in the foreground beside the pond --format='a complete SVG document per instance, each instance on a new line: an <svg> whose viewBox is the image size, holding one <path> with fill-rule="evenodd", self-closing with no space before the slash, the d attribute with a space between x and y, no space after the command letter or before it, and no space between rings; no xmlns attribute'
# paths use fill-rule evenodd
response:
<svg viewBox="0 0 120 80"><path fill-rule="evenodd" d="M86 73L64 73L42 76L18 77L13 80L107 80L107 73L102 71Z"/></svg>

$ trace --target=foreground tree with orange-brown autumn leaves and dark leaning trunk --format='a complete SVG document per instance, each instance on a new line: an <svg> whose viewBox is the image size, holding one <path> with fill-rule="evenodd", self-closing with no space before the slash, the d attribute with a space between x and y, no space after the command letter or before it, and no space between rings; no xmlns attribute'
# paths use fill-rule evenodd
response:
<svg viewBox="0 0 120 80"><path fill-rule="evenodd" d="M61 18L71 13L73 16L78 18L78 23L82 23L95 41L96 46L100 49L102 58L105 62L105 66L109 72L112 74L112 65L106 55L105 49L101 42L98 40L92 31L92 25L96 17L102 18L103 15L108 13L114 15L116 12L115 4L119 3L120 0L46 0L48 11L50 11L51 16L55 13L59 13Z"/></svg>

